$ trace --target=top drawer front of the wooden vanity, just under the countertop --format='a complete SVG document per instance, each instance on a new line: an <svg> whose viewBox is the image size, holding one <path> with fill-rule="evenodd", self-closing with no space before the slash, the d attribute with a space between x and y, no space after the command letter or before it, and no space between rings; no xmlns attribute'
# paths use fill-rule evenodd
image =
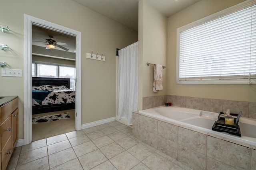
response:
<svg viewBox="0 0 256 170"><path fill-rule="evenodd" d="M8 102L4 106L1 106L0 122L2 123L14 110L18 108L18 98Z"/></svg>

